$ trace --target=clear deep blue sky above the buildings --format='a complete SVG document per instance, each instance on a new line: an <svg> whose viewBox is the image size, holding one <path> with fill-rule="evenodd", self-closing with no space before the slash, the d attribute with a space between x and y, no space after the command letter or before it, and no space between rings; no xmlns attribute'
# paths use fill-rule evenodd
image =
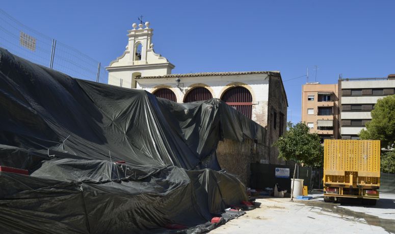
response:
<svg viewBox="0 0 395 234"><path fill-rule="evenodd" d="M314 81L395 73L395 1L4 1L23 24L103 65L121 55L144 16L173 73L279 70L292 121ZM292 80L289 80L292 79ZM289 80L289 81L286 81ZM288 120L291 119L288 111Z"/></svg>

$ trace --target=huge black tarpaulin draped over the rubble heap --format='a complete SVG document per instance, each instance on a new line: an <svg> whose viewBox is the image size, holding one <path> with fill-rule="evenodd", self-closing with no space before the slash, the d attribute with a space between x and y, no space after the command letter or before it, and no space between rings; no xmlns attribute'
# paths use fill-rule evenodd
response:
<svg viewBox="0 0 395 234"><path fill-rule="evenodd" d="M174 103L71 78L0 48L0 232L204 232L248 200L224 138L265 129L218 99ZM224 216L225 221L231 216ZM172 230L173 229L173 230Z"/></svg>

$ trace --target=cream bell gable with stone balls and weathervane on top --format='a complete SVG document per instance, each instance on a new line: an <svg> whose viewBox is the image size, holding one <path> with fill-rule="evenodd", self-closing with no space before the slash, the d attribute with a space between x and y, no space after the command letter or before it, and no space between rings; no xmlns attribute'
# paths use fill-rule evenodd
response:
<svg viewBox="0 0 395 234"><path fill-rule="evenodd" d="M106 69L109 72L109 84L134 89L138 87L135 80L137 76L171 74L174 65L153 50L153 29L149 27L149 22L139 25L133 23L131 26L133 29L127 31L128 43L125 51Z"/></svg>

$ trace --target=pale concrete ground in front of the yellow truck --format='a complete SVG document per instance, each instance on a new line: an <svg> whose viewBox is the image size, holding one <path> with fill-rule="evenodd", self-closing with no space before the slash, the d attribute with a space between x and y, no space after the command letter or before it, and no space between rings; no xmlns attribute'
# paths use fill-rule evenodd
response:
<svg viewBox="0 0 395 234"><path fill-rule="evenodd" d="M395 233L394 194L380 194L376 206L326 203L323 194L312 196L294 202L261 197L255 210L209 233Z"/></svg>

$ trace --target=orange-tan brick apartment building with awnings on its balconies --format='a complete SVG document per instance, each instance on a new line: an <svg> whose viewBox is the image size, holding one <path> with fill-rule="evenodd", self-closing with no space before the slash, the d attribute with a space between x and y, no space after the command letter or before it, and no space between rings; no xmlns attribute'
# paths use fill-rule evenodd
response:
<svg viewBox="0 0 395 234"><path fill-rule="evenodd" d="M338 139L338 86L309 82L302 86L302 122L324 139Z"/></svg>

